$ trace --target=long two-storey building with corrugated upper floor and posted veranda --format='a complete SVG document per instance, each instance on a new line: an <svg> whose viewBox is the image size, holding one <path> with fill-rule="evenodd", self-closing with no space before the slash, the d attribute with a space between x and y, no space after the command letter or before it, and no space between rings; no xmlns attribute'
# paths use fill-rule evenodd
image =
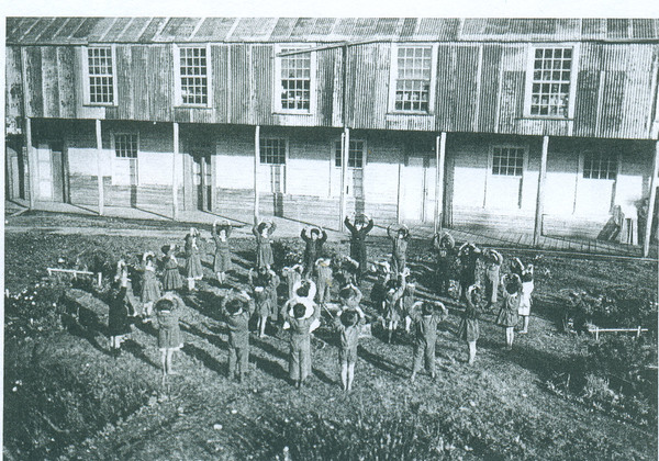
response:
<svg viewBox="0 0 659 461"><path fill-rule="evenodd" d="M596 237L658 68L658 20L13 18L8 192Z"/></svg>

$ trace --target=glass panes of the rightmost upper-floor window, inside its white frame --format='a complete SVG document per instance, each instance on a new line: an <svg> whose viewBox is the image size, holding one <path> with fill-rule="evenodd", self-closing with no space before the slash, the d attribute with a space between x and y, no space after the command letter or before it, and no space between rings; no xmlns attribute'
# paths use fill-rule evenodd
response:
<svg viewBox="0 0 659 461"><path fill-rule="evenodd" d="M529 71L530 116L569 117L573 97L573 60L571 46L536 47Z"/></svg>

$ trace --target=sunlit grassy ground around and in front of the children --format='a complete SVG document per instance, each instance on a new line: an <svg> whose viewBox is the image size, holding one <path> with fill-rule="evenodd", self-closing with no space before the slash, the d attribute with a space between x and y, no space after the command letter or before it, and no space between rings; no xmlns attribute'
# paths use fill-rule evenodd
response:
<svg viewBox="0 0 659 461"><path fill-rule="evenodd" d="M15 292L31 286L42 280L45 268L59 256L88 248L113 255L146 250L159 255L159 248L169 241L149 238L147 234L58 236L26 228L24 234L7 235L5 288ZM286 243L301 248L299 239ZM336 251L347 250L347 245L340 241L330 241L327 246ZM231 282L244 288L247 269L254 260L254 243L234 239L233 250L236 271ZM422 276L428 265L427 251L426 243L412 241L410 265L420 274L418 297L436 299L424 286L427 282ZM411 338L401 335L395 344L388 345L376 330L373 337L361 339L355 389L346 395L339 384L336 335L327 325L316 331L313 375L302 391L287 381L288 336L276 329L264 339L252 337L247 382L227 380L227 335L217 314L223 292L212 280L210 252L209 249L203 257L208 279L200 283L198 292L183 295L187 307L181 314L181 330L186 346L176 357L180 375L168 378L164 385L156 331L150 326L136 326L130 347L116 359L109 355L102 331L56 333L45 339L47 347L41 348L35 342L44 339L8 340L7 370L18 367L38 349L42 360L48 363L56 362L85 376L102 376L88 379L88 383L103 389L100 395L112 393L119 382L131 382L133 392L144 394L142 405L113 418L109 416L104 425L97 421L100 428L80 432L75 442L70 437L64 438L70 443L54 437L49 442L53 454L66 459L287 459L287 453L292 453L295 459L294 447L289 448L289 441L280 434L300 430L299 425L304 424L308 415L317 416L315 420L326 421L338 432L340 427L351 427L357 419L390 420L394 414L413 414L418 420L438 425L444 434L440 442L433 439L436 458L657 458L657 435L651 428L557 395L546 384L557 373L565 372L572 358L593 340L559 331L562 312L559 291L611 283L652 286L657 283L654 263L556 256L537 260L530 333L517 336L514 349L506 351L503 331L493 324L494 314L485 314L473 366L467 364L466 345L456 337L462 307L453 300L442 299L450 314L438 335L438 379L433 382L422 375L411 383ZM371 259L381 259L388 252L384 239L371 239ZM504 252L506 259L513 255ZM523 259L528 258L524 254ZM367 282L364 289L366 300L370 286ZM101 300L81 290L71 290L70 295L93 313L100 324L107 322L108 307ZM365 307L368 314L376 314L368 303ZM15 373L9 374L15 378ZM5 376L5 390L7 385ZM12 398L11 393L5 393L5 404L8 398ZM103 405L103 398L98 405ZM5 415L5 427L8 424L11 420ZM335 459L323 437L313 441L317 449L315 458ZM423 435L420 443L422 439ZM4 454L16 456L12 440L7 440L7 430L4 443Z"/></svg>

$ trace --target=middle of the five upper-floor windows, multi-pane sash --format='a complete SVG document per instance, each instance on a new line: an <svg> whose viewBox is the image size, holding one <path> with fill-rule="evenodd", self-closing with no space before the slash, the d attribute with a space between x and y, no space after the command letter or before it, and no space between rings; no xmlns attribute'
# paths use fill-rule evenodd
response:
<svg viewBox="0 0 659 461"><path fill-rule="evenodd" d="M284 112L311 112L313 105L312 53L304 48L280 48L277 60L279 95L277 109ZM298 52L298 53L297 53ZM277 91L276 91L277 94Z"/></svg>

